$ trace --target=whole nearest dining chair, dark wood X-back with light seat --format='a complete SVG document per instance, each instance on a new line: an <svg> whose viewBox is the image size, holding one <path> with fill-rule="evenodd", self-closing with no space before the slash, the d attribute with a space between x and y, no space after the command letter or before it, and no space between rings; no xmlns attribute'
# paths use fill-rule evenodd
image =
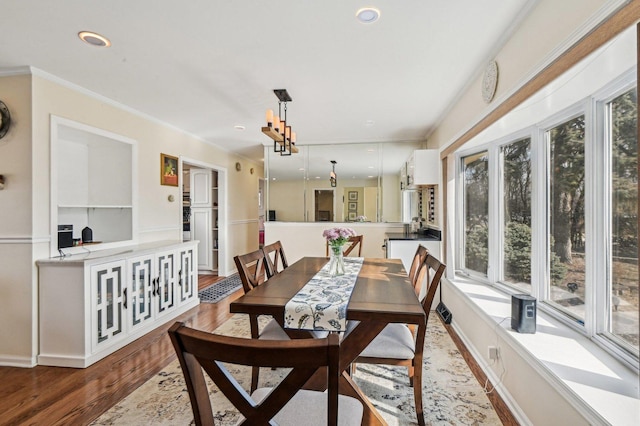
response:
<svg viewBox="0 0 640 426"><path fill-rule="evenodd" d="M324 339L263 341L222 336L176 322L169 329L187 384L196 425L213 425L213 410L203 370L231 402L246 425L360 425L362 403L338 394L338 336ZM225 364L223 364L225 363ZM272 388L251 395L228 366L291 368ZM327 392L303 390L318 368L327 369Z"/></svg>

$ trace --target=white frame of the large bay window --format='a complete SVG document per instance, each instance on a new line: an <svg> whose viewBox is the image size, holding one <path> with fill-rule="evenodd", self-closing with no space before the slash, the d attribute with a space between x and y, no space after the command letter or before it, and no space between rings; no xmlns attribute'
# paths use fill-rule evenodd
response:
<svg viewBox="0 0 640 426"><path fill-rule="evenodd" d="M524 138L531 140L531 295L538 301L541 311L558 319L597 343L627 365L638 369L639 355L631 345L607 330L609 289L611 289L611 141L606 136L605 109L616 97L638 87L636 67L566 108L551 114L538 123L516 130L507 136L488 140L455 154L456 165L456 274L489 284L507 293L523 293L505 282L504 276L504 200L503 164L501 148ZM639 96L640 98L640 96ZM638 108L640 111L640 108ZM585 136L585 314L584 321L569 315L556 303L549 303L551 280L549 269L549 143L547 132L555 126L584 115ZM464 158L486 151L488 155L489 206L488 206L488 270L487 276L465 267L465 179ZM602 202L602 201L606 202ZM462 208L461 208L462 207ZM493 230L499 232L492 232ZM544 230L541 232L541 230ZM602 244L606 241L606 244ZM597 262L597 259L607 259ZM605 286L596 283L605 282Z"/></svg>

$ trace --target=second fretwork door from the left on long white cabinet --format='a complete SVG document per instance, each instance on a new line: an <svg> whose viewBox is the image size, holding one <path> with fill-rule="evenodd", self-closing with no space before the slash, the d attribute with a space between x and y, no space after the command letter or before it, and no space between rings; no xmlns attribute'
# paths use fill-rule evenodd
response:
<svg viewBox="0 0 640 426"><path fill-rule="evenodd" d="M153 320L155 256L147 255L127 261L129 325L136 329Z"/></svg>

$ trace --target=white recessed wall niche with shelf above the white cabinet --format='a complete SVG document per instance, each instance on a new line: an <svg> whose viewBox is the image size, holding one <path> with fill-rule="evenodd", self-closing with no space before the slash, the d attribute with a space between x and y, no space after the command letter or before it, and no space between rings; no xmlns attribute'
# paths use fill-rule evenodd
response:
<svg viewBox="0 0 640 426"><path fill-rule="evenodd" d="M51 255L58 256L60 225L73 227L64 253L111 248L135 237L134 177L137 145L132 139L60 117L51 121ZM82 240L89 227L92 241ZM67 231L68 232L68 231Z"/></svg>

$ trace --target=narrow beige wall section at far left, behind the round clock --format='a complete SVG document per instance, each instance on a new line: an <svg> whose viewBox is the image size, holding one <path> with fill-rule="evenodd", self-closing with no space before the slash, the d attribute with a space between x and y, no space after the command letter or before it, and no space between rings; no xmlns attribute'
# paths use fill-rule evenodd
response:
<svg viewBox="0 0 640 426"><path fill-rule="evenodd" d="M0 359L8 364L32 364L36 356L33 265L34 242L42 234L32 231L31 79L0 78L0 99L11 113L12 127L0 139ZM36 175L45 174L37 171ZM21 259L21 262L16 262Z"/></svg>

